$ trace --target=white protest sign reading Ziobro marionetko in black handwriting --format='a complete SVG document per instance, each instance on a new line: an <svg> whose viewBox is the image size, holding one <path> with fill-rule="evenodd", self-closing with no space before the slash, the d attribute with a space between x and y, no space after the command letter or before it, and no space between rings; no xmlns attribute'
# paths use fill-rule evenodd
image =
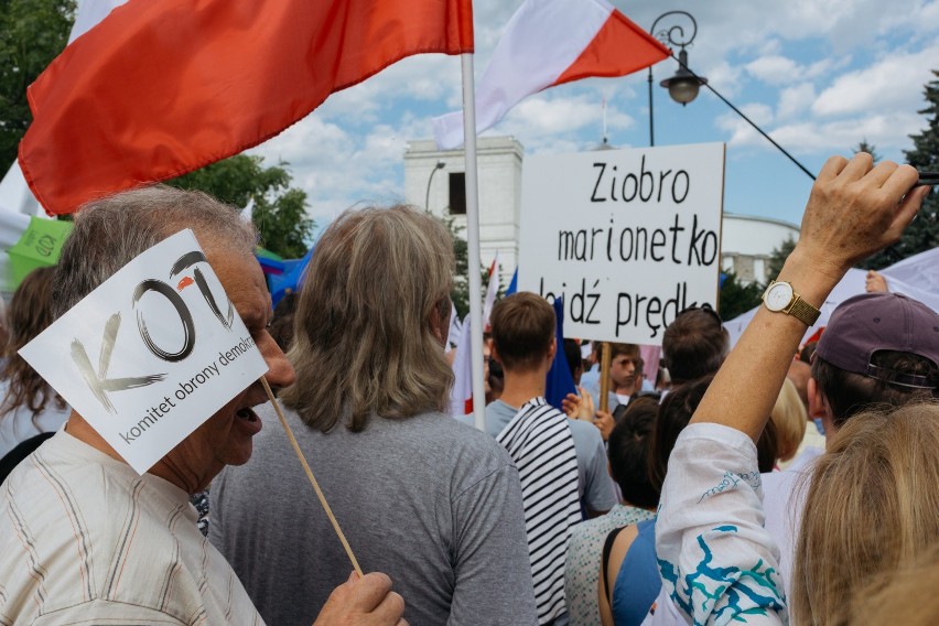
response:
<svg viewBox="0 0 939 626"><path fill-rule="evenodd" d="M724 145L527 156L520 290L564 298L564 334L660 345L716 304Z"/></svg>

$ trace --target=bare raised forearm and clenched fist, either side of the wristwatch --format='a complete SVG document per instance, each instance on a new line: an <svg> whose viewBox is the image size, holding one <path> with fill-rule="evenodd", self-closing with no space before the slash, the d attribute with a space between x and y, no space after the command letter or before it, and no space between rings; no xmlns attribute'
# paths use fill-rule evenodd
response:
<svg viewBox="0 0 939 626"><path fill-rule="evenodd" d="M930 187L917 187L916 170L870 154L832 156L812 187L796 249L778 280L821 306L852 265L896 242ZM806 332L794 316L760 306L717 373L693 422L714 422L759 438ZM733 410L728 410L733 407Z"/></svg>

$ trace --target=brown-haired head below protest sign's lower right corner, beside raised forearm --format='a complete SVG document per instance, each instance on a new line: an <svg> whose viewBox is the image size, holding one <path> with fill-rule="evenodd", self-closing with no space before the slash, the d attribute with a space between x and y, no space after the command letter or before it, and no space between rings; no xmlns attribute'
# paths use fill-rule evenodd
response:
<svg viewBox="0 0 939 626"><path fill-rule="evenodd" d="M708 304L679 313L662 335L665 365L678 385L717 371L728 347L727 331Z"/></svg>

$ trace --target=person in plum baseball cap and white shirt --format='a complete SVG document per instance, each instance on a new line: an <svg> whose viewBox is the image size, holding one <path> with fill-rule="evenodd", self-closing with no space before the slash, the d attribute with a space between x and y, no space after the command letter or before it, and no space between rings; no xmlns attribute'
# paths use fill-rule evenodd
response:
<svg viewBox="0 0 939 626"><path fill-rule="evenodd" d="M832 441L855 414L936 398L937 387L939 314L902 293L864 293L842 302L822 333L812 356L809 411L822 415ZM766 529L779 544L787 595L808 490L797 487L822 452L807 449L785 472L763 475Z"/></svg>

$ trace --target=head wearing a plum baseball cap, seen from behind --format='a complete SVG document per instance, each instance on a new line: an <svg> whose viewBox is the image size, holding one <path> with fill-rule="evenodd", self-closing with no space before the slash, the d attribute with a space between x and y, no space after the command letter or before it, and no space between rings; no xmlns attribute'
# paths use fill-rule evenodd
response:
<svg viewBox="0 0 939 626"><path fill-rule="evenodd" d="M939 397L939 314L898 293L845 300L818 343L812 378L839 427L877 404Z"/></svg>

